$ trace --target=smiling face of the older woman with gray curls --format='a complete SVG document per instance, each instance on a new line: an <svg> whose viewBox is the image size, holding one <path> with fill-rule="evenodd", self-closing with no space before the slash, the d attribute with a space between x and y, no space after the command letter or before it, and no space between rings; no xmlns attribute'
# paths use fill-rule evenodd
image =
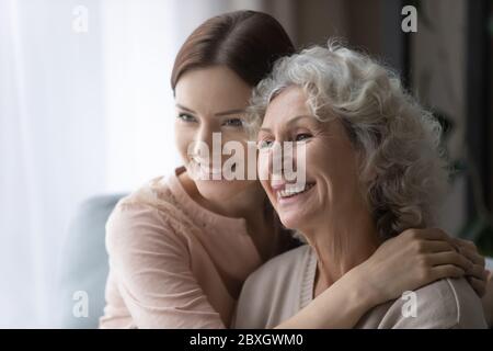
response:
<svg viewBox="0 0 493 351"><path fill-rule="evenodd" d="M272 176L274 141L305 143L305 155L294 152L294 167L306 161L306 185L300 192L286 194L286 178ZM321 220L336 218L362 201L358 189L358 156L344 126L337 120L320 122L307 105L302 89L289 87L267 106L259 133L259 174L262 186L288 228L302 230Z"/></svg>

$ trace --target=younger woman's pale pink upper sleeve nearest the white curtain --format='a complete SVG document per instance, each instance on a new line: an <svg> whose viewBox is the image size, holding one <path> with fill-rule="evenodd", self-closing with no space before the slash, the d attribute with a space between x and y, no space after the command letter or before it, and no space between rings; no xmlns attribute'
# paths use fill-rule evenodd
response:
<svg viewBox="0 0 493 351"><path fill-rule="evenodd" d="M186 240L159 210L118 204L106 223L106 249L138 328L225 328L192 272Z"/></svg>

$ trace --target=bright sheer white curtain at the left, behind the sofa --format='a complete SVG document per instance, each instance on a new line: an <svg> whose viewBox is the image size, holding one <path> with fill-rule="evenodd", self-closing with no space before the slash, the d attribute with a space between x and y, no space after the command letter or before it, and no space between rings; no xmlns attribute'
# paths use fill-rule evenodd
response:
<svg viewBox="0 0 493 351"><path fill-rule="evenodd" d="M100 26L74 7L0 0L0 327L46 325L67 222L106 186Z"/></svg>

